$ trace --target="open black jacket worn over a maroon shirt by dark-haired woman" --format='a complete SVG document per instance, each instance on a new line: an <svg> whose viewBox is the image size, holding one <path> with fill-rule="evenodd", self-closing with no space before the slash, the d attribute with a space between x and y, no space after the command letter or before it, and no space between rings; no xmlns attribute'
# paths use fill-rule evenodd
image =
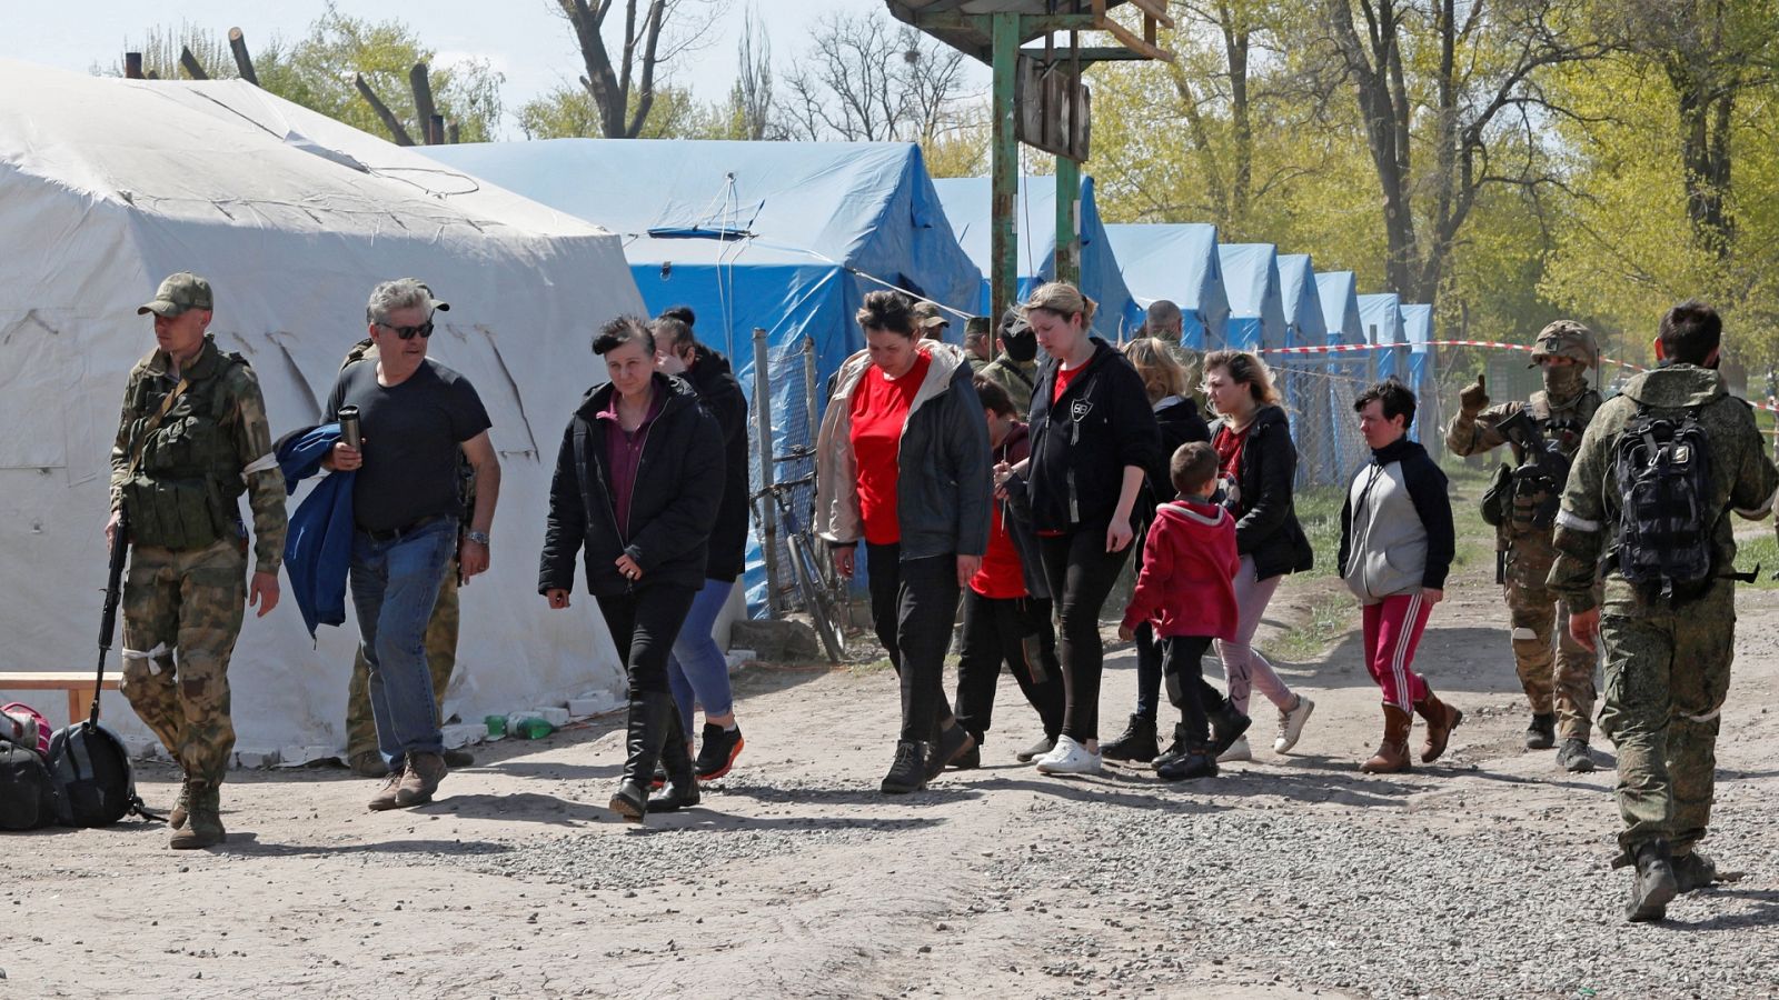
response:
<svg viewBox="0 0 1779 1000"><path fill-rule="evenodd" d="M630 534L617 527L605 427L596 415L616 390L601 383L582 397L562 432L555 477L550 480L550 518L537 568L537 593L575 587L575 553L585 553L587 591L617 596L651 584L704 585L706 539L722 502L722 432L697 402L697 391L660 372L660 415L649 425L630 495ZM617 571L617 557L642 568L632 582Z"/></svg>

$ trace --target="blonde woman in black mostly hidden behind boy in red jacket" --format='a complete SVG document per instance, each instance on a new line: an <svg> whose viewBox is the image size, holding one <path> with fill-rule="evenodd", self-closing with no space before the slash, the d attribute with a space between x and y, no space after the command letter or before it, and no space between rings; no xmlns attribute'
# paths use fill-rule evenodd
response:
<svg viewBox="0 0 1779 1000"><path fill-rule="evenodd" d="M1204 416L1192 402L1192 390L1187 386L1187 368L1174 359L1169 345L1153 336L1139 336L1124 345L1124 358L1137 368L1142 388L1155 409L1155 422L1162 431L1162 459L1147 473L1147 489L1142 495L1140 512L1144 520L1156 504L1174 498L1174 486L1167 473L1167 459L1187 441L1210 441L1210 429ZM1137 534L1137 562L1142 562L1142 543L1147 532ZM1185 753L1183 730L1174 728L1174 744L1167 753L1160 753L1156 737L1156 710L1162 699L1162 648L1155 642L1155 630L1144 623L1137 628L1137 710L1131 712L1124 731L1112 742L1099 746L1105 760L1135 760L1165 763L1169 758ZM1219 696L1219 701L1222 698Z"/></svg>

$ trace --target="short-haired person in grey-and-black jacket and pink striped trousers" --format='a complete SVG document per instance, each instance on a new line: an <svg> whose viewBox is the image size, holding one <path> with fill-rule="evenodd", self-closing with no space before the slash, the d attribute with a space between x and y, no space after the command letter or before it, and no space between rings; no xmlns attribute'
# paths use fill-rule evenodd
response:
<svg viewBox="0 0 1779 1000"><path fill-rule="evenodd" d="M1379 383L1352 404L1372 461L1347 489L1340 512L1340 575L1364 607L1364 667L1384 694L1384 738L1359 765L1366 774L1409 769L1409 726L1427 721L1421 763L1445 753L1464 714L1414 673L1414 648L1455 552L1452 496L1439 464L1409 440L1414 393L1397 379Z"/></svg>

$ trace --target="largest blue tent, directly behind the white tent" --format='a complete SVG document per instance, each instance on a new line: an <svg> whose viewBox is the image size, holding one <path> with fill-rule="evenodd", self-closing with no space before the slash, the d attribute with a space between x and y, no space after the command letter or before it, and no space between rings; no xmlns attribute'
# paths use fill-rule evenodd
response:
<svg viewBox="0 0 1779 1000"><path fill-rule="evenodd" d="M753 329L765 329L777 454L813 443L809 400L818 406L818 388L865 345L852 315L866 292L904 288L977 311L982 274L959 249L914 144L557 139L423 151L470 174L466 183L507 187L623 237L649 311L692 306L697 338L729 356L749 402ZM961 336L952 324L952 340ZM754 607L765 596L760 566L751 543Z"/></svg>

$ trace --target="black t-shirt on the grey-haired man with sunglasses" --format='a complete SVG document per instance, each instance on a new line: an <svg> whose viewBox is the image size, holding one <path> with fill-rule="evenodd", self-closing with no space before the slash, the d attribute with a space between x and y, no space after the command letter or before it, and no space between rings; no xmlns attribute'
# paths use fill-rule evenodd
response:
<svg viewBox="0 0 1779 1000"><path fill-rule="evenodd" d="M340 372L326 420L356 406L365 464L352 484L352 518L365 530L407 527L420 518L461 518L457 454L491 427L475 386L432 361L398 386L377 384L377 363L356 361Z"/></svg>

